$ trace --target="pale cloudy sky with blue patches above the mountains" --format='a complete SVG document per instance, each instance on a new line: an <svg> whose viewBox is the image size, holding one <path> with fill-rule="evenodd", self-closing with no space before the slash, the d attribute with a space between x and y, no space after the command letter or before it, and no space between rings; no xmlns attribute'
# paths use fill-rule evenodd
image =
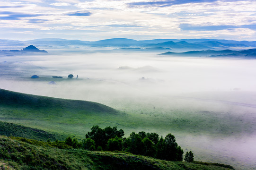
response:
<svg viewBox="0 0 256 170"><path fill-rule="evenodd" d="M255 0L0 0L0 39L256 41Z"/></svg>

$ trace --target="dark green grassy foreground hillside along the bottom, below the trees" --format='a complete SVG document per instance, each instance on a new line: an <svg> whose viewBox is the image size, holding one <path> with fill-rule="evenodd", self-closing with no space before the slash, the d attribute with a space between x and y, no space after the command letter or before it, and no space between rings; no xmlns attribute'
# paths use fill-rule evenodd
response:
<svg viewBox="0 0 256 170"><path fill-rule="evenodd" d="M38 142L40 143L40 142ZM163 161L130 153L35 146L0 136L0 168L17 170L229 170L211 163ZM228 168L225 168L228 167Z"/></svg>

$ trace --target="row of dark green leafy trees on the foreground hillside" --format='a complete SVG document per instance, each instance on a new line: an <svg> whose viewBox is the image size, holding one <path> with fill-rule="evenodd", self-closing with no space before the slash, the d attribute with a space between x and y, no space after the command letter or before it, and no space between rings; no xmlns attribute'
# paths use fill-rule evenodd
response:
<svg viewBox="0 0 256 170"><path fill-rule="evenodd" d="M83 148L90 151L123 151L132 154L150 156L168 161L182 161L183 150L177 144L175 136L168 134L163 138L157 133L132 132L129 137L123 137L124 130L117 127L96 126L86 134L86 138L78 142L71 137L66 138L65 144L73 148ZM194 154L186 152L184 161L194 161Z"/></svg>

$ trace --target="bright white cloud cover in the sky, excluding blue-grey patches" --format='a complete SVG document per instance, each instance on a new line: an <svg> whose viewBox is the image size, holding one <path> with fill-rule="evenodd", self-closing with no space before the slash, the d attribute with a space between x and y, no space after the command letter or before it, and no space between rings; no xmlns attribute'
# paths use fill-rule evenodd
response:
<svg viewBox="0 0 256 170"><path fill-rule="evenodd" d="M41 19L44 23L27 23L28 18L21 20L1 20L3 28L36 28L38 30L85 30L103 32L122 37L128 34L148 35L149 37L174 36L220 37L227 34L230 37L249 37L253 39L255 32L249 28L237 28L212 31L185 31L180 24L194 26L241 26L256 23L256 3L252 0L224 1L203 3L187 3L173 6L129 6L129 3L151 0L56 0L52 3L42 3L41 0L22 0L19 2L0 2L4 11L19 13L45 14L29 19ZM20 7L18 7L20 6ZM56 7L57 6L57 7ZM90 16L67 16L65 14L77 11L90 12ZM124 25L123 27L110 25ZM125 27L125 25L127 27ZM139 25L141 27L129 27ZM79 34L79 32L77 33ZM117 34L117 35L116 35ZM64 38L64 37L63 37ZM178 37L177 37L178 38ZM234 39L234 38L231 38Z"/></svg>

